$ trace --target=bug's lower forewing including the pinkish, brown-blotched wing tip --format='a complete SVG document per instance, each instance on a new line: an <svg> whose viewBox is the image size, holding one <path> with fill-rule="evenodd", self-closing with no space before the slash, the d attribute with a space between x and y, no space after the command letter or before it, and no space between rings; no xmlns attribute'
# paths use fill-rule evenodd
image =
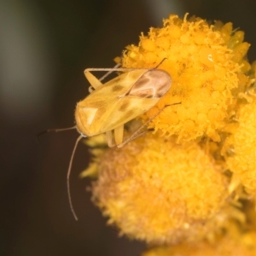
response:
<svg viewBox="0 0 256 256"><path fill-rule="evenodd" d="M107 112L98 109L99 119L102 117L102 119L108 120L104 127L102 126L102 132L124 125L154 107L170 89L171 84L171 77L166 71L149 69L144 72L125 96L119 96L118 101L109 102Z"/></svg>

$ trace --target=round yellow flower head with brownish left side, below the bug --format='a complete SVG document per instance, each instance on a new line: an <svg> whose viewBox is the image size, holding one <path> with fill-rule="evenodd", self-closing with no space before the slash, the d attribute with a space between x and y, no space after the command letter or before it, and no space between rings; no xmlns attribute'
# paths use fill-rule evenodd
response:
<svg viewBox="0 0 256 256"><path fill-rule="evenodd" d="M121 234L150 243L196 240L228 197L227 180L196 143L148 135L108 149L98 163L96 204Z"/></svg>

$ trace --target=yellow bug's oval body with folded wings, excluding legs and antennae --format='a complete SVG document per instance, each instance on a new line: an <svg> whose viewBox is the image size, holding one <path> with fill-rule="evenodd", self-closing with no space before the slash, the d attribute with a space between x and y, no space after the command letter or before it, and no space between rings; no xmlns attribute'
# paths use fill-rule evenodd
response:
<svg viewBox="0 0 256 256"><path fill-rule="evenodd" d="M90 137L111 131L148 111L171 87L160 69L134 70L102 84L77 105L80 132Z"/></svg>

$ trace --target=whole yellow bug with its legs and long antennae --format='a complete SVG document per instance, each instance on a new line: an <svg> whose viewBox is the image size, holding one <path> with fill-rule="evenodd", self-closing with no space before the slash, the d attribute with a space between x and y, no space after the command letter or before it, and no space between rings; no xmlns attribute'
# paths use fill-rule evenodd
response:
<svg viewBox="0 0 256 256"><path fill-rule="evenodd" d="M67 129L48 130L63 131L76 128L80 133L74 145L67 171L68 200L76 220L78 218L73 209L69 177L73 156L79 141L83 137L92 137L106 133L108 146L121 148L126 143L147 132L140 131L148 123L135 131L131 137L124 140L125 123L154 107L160 98L171 88L171 76L166 71L158 69L160 64L156 68L119 68L119 65L117 65L113 68L85 69L84 75L91 85L89 89L90 95L77 103L75 109L76 125ZM106 84L102 84L102 79L96 79L90 73L91 71L108 71L102 79L105 79L113 71L124 73L109 80ZM148 122L154 119L154 117L149 119Z"/></svg>

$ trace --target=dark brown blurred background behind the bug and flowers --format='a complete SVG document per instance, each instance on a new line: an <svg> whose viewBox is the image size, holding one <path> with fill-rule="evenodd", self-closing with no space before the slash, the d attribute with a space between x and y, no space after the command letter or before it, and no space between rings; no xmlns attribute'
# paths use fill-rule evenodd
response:
<svg viewBox="0 0 256 256"><path fill-rule="evenodd" d="M255 0L0 0L0 255L139 255L143 243L119 238L79 179L90 154L75 154L67 201L67 167L78 133L40 137L74 125L76 102L88 94L86 67L113 58L169 14L231 21L246 32L256 59Z"/></svg>

